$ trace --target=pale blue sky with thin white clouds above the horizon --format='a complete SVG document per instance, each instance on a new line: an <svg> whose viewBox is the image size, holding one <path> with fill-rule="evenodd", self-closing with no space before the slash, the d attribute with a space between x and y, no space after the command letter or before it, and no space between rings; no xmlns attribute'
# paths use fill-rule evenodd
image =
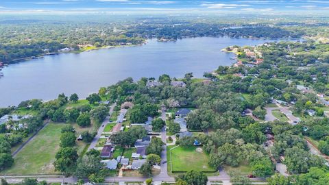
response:
<svg viewBox="0 0 329 185"><path fill-rule="evenodd" d="M0 12L185 10L228 12L322 11L329 0L0 0Z"/></svg>

